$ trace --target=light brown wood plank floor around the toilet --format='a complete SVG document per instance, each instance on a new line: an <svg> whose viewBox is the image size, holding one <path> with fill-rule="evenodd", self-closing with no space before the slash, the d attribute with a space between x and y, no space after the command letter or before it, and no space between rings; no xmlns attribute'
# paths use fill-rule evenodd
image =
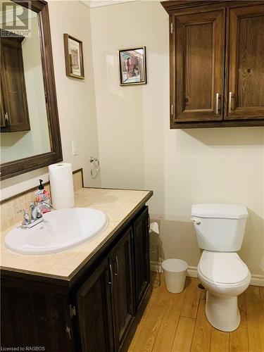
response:
<svg viewBox="0 0 264 352"><path fill-rule="evenodd" d="M220 332L206 319L205 290L198 284L198 279L187 277L184 291L170 294L162 277L129 352L264 352L264 287L250 286L239 296L239 328Z"/></svg>

